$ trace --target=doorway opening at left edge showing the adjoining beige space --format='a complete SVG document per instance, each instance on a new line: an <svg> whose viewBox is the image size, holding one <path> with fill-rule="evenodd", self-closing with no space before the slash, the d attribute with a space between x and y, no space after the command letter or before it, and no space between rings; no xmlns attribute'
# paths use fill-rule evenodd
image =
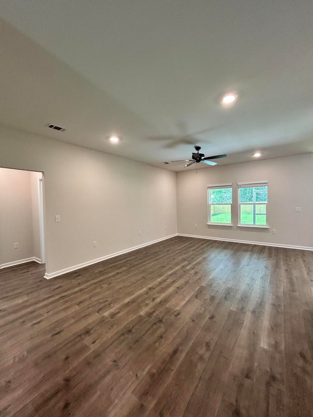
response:
<svg viewBox="0 0 313 417"><path fill-rule="evenodd" d="M0 268L45 264L44 175L0 168Z"/></svg>

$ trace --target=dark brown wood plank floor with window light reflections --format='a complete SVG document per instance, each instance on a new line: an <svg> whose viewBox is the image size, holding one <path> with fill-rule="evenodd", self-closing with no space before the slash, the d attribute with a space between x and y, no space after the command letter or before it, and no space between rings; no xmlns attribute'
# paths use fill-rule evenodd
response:
<svg viewBox="0 0 313 417"><path fill-rule="evenodd" d="M0 271L0 416L313 416L313 253L176 237Z"/></svg>

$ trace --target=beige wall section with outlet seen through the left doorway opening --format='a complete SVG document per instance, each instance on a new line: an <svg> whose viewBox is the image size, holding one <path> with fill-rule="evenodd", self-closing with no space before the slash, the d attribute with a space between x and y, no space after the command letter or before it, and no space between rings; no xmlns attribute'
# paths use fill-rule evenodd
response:
<svg viewBox="0 0 313 417"><path fill-rule="evenodd" d="M0 168L0 264L34 256L30 176Z"/></svg>

